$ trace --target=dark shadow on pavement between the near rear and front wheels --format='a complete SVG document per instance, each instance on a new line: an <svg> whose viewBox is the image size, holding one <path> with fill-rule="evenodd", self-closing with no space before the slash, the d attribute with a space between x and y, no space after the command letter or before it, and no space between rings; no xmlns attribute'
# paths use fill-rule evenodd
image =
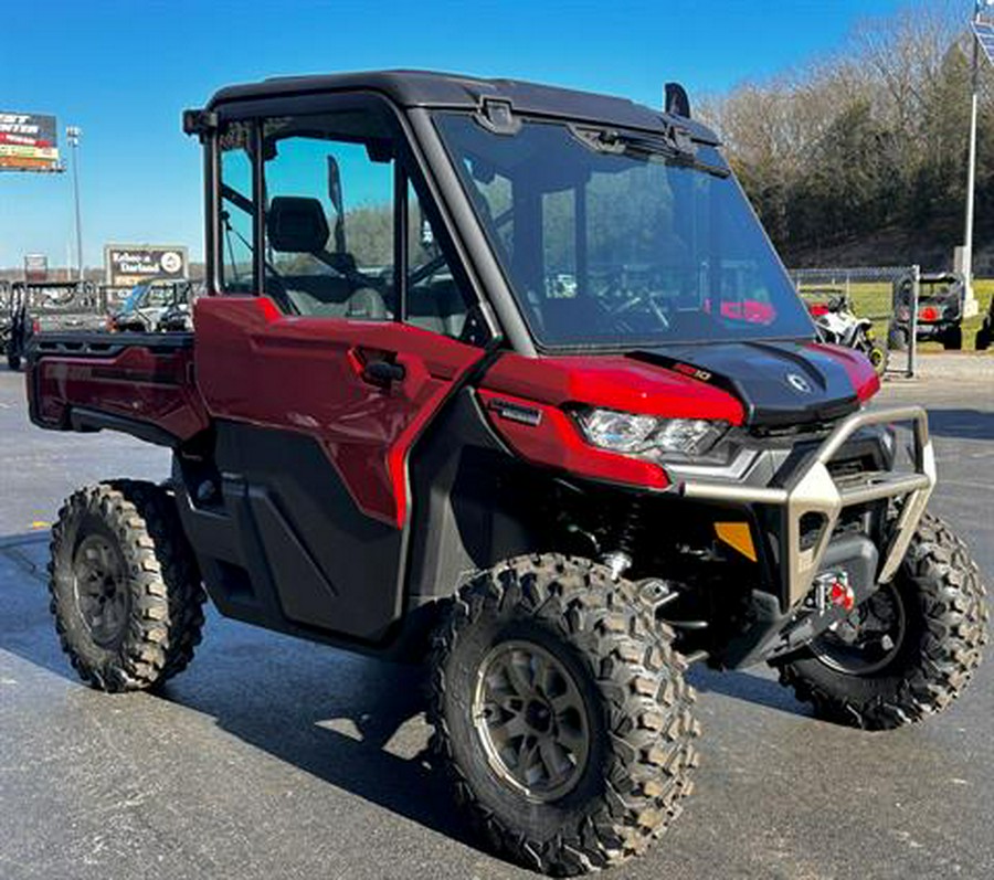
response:
<svg viewBox="0 0 994 880"><path fill-rule="evenodd" d="M221 624L208 638L241 626ZM159 696L324 782L477 848L442 773L429 765L423 669L256 632L251 638L255 668L239 662L229 676L204 665ZM289 644L272 646L279 656L267 657L271 646L262 643L276 640Z"/></svg>

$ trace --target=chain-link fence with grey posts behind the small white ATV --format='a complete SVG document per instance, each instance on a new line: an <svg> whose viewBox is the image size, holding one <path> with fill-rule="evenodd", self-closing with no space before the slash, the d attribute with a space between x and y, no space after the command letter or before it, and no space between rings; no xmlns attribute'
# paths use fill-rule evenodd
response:
<svg viewBox="0 0 994 880"><path fill-rule="evenodd" d="M790 275L826 341L865 351L881 373L914 375L918 266L802 268Z"/></svg>

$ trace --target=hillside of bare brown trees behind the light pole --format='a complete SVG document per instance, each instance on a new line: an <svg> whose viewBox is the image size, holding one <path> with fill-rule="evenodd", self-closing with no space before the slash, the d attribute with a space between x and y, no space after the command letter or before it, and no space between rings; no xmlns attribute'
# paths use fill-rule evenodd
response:
<svg viewBox="0 0 994 880"><path fill-rule="evenodd" d="M971 38L933 0L864 22L835 57L704 102L791 266L948 268L963 238ZM994 73L982 61L975 269L994 271Z"/></svg>

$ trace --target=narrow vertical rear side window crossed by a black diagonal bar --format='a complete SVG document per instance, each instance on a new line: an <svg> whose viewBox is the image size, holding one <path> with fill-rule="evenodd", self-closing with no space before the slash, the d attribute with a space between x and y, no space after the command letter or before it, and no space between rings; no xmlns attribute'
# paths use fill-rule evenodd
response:
<svg viewBox="0 0 994 880"><path fill-rule="evenodd" d="M252 158L248 123L221 131L221 289L255 293L252 278Z"/></svg>

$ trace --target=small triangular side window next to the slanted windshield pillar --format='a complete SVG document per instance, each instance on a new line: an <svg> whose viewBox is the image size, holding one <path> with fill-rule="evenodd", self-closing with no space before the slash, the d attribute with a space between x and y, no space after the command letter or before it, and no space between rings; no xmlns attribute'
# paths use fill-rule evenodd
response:
<svg viewBox="0 0 994 880"><path fill-rule="evenodd" d="M474 327L479 316L470 312L473 301L463 279L450 267L442 242L409 183L406 321L423 330L476 343L483 327Z"/></svg>

